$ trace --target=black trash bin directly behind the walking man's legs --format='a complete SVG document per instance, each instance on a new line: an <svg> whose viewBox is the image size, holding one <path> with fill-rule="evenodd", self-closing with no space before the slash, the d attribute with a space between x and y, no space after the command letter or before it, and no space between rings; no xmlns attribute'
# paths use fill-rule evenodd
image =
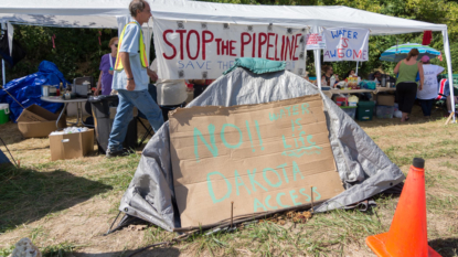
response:
<svg viewBox="0 0 458 257"><path fill-rule="evenodd" d="M109 117L109 107L118 106L119 99L116 95L97 96L90 97L89 103L93 108L98 153L105 154L108 149L108 139L114 121L114 119L110 119ZM126 149L137 148L137 119L135 117L128 125L123 147Z"/></svg>

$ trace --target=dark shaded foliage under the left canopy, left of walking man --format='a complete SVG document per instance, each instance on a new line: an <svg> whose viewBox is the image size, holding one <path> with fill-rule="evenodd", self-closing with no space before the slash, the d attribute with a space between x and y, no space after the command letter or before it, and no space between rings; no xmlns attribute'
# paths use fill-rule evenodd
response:
<svg viewBox="0 0 458 257"><path fill-rule="evenodd" d="M68 81L79 76L98 77L102 55L109 53L108 42L117 36L115 30L66 29L14 25L14 39L21 43L26 57L7 72L7 81L38 72L39 64L51 61ZM52 36L55 35L55 49Z"/></svg>

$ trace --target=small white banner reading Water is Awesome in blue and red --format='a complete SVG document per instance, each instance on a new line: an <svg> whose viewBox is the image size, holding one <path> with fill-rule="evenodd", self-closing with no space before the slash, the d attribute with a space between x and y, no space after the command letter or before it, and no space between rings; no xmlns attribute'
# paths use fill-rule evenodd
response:
<svg viewBox="0 0 458 257"><path fill-rule="evenodd" d="M333 28L324 30L324 62L369 60L369 30Z"/></svg>

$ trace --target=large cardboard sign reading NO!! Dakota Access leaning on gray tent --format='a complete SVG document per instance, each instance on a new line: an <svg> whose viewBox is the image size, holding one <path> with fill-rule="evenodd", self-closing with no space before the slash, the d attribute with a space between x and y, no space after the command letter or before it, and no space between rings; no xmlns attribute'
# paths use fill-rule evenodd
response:
<svg viewBox="0 0 458 257"><path fill-rule="evenodd" d="M182 227L328 200L343 191L319 95L170 116Z"/></svg>

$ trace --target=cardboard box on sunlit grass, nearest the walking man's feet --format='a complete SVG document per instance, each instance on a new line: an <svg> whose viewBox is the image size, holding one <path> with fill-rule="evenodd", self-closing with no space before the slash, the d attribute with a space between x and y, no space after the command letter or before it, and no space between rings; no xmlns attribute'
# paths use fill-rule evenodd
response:
<svg viewBox="0 0 458 257"><path fill-rule="evenodd" d="M94 151L94 129L79 133L50 135L51 161L75 159Z"/></svg>

